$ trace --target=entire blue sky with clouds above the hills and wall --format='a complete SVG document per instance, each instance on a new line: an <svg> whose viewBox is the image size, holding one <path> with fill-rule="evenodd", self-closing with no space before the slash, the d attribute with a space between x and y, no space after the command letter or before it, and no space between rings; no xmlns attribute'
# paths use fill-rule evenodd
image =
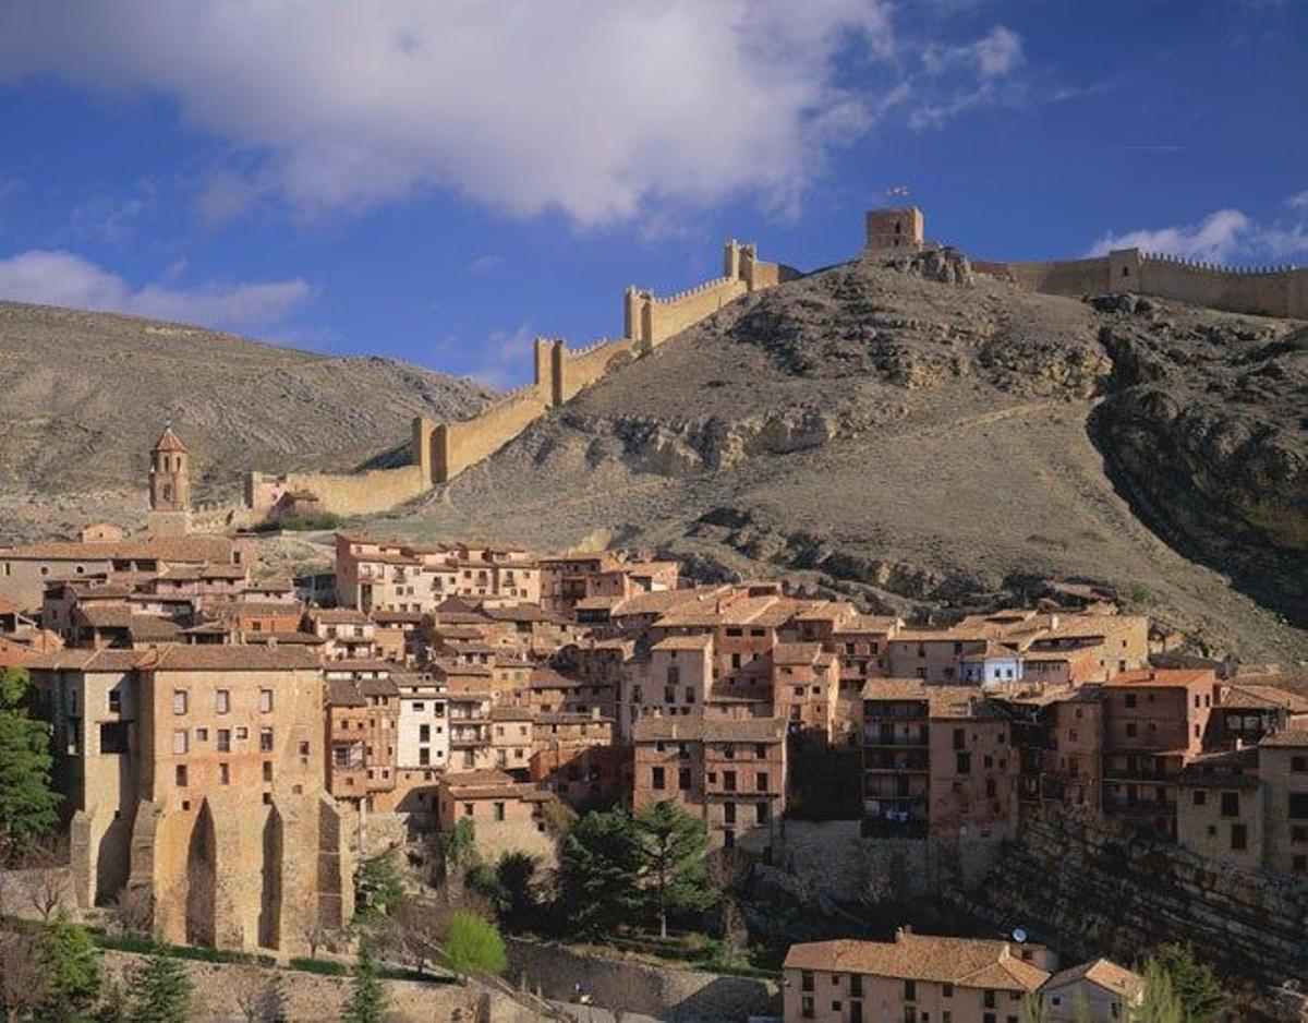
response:
<svg viewBox="0 0 1308 1023"><path fill-rule="evenodd" d="M906 186L973 255L1308 263L1299 0L0 8L0 297L493 386Z"/></svg>

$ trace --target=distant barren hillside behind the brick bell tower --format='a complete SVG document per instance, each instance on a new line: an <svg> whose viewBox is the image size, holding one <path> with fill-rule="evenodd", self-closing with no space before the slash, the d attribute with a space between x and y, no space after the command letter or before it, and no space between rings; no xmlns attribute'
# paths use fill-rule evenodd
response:
<svg viewBox="0 0 1308 1023"><path fill-rule="evenodd" d="M385 460L415 415L464 417L489 396L387 358L0 302L0 539L139 513L165 423L192 451L203 500L238 493L251 467Z"/></svg>

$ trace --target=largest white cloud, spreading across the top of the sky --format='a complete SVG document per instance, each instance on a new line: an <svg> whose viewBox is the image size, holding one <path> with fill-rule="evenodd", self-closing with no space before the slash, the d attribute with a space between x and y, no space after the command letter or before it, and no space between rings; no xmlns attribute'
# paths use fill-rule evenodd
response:
<svg viewBox="0 0 1308 1023"><path fill-rule="evenodd" d="M793 211L905 73L888 0L93 0L0 7L0 81L160 94L230 144L201 218L360 211L446 188L576 224L749 198ZM939 48L938 88L1022 63ZM852 90L848 67L884 75ZM916 65L916 64L914 64ZM944 67L948 65L948 67Z"/></svg>

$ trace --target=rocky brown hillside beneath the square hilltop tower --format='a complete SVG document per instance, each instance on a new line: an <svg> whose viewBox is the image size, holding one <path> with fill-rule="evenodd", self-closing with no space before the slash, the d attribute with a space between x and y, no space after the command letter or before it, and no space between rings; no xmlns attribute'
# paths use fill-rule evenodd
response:
<svg viewBox="0 0 1308 1023"><path fill-rule="evenodd" d="M1303 657L1278 619L1305 620L1295 326L850 263L729 306L387 525L658 547L909 612L1086 580L1201 646Z"/></svg>

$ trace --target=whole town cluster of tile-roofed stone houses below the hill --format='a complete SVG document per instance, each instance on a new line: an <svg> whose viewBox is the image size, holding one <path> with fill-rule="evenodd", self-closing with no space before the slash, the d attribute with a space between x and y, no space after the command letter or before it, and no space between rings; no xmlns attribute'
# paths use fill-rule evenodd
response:
<svg viewBox="0 0 1308 1023"><path fill-rule="evenodd" d="M161 446L175 466L179 442ZM371 822L470 819L487 856L547 859L555 808L671 799L714 848L766 859L814 748L852 772L866 840L921 841L964 883L1049 808L1308 875L1308 699L1156 666L1148 620L1093 595L921 627L777 582L685 585L661 559L343 532L319 607L251 539L171 532L0 549L0 663L30 671L54 721L86 904L194 853L199 824L139 862L146 810L149 835L170 814L221 835L225 799L256 793L279 819L330 806L356 852ZM341 850L313 852L319 895L348 905ZM1112 964L1056 973L1010 945L797 946L787 1019L861 1020L886 985L940 1023L1011 1019L1018 992L1050 1010L1067 985L1138 994Z"/></svg>

